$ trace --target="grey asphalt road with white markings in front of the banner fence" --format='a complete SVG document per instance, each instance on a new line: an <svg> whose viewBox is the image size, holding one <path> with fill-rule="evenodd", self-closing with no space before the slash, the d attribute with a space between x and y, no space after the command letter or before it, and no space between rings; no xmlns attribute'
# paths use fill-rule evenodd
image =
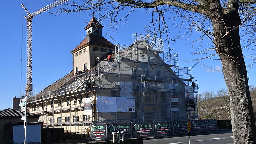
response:
<svg viewBox="0 0 256 144"><path fill-rule="evenodd" d="M188 144L188 136L145 138L144 144ZM191 144L233 144L233 135L229 130L197 134L190 136Z"/></svg>

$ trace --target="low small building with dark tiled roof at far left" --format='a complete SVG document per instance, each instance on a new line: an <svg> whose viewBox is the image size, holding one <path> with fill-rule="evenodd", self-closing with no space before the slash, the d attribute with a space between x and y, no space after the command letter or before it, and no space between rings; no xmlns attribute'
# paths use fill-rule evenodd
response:
<svg viewBox="0 0 256 144"><path fill-rule="evenodd" d="M25 112L11 108L0 110L0 144L12 143L17 138L21 138L24 141L24 121L21 120L21 117L24 115ZM33 126L28 124L27 128L31 130L35 130L35 128L37 128L37 131L30 131L27 135L29 136L33 134L34 136L40 136L41 141L42 123L38 123L39 117L40 116L38 114L27 113L27 122L31 125L33 124ZM23 130L23 133L21 130ZM27 142L29 142L29 140L27 140Z"/></svg>

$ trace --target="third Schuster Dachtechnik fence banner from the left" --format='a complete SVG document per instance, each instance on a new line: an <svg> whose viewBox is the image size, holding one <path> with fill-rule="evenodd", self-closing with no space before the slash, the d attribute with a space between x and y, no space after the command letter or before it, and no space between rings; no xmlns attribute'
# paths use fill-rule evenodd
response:
<svg viewBox="0 0 256 144"><path fill-rule="evenodd" d="M152 137L153 136L153 123L132 123L133 137Z"/></svg>

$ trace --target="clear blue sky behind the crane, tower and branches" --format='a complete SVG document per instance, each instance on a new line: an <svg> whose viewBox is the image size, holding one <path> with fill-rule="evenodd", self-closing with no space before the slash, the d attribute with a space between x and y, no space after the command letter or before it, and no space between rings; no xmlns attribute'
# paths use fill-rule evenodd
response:
<svg viewBox="0 0 256 144"><path fill-rule="evenodd" d="M0 109L12 107L12 97L19 97L20 94L20 68L21 68L21 41L23 40L22 50L22 92L25 91L26 84L26 19L22 17L21 3L29 12L34 12L53 1L45 0L14 0L5 1L0 5L0 49L1 49L1 77L0 93L4 103ZM61 7L61 6L60 6ZM51 10L55 12L57 9ZM23 11L23 15L26 15ZM83 39L86 34L84 27L86 21L90 21L90 13L81 14L61 14L54 15L48 12L33 18L33 89L41 90L72 70L72 54L70 53ZM169 15L171 16L171 14ZM97 17L97 15L96 15ZM108 22L101 24L104 26L103 35L112 43L132 44L132 34L144 32L144 25L151 19L150 12L145 13L144 9L136 10L128 17L127 23L114 31L108 30ZM169 21L167 21L169 22ZM179 22L179 21L177 21ZM23 39L21 37L23 25ZM169 27L172 37L177 36L179 28ZM182 30L185 33L186 30ZM193 31L192 38L182 38L175 43L171 43L171 48L175 48L173 53L178 53L179 66L192 67L197 61L194 59L202 58L203 55L193 55L196 44L189 44L200 36L199 32ZM204 41L202 47L208 48L209 41ZM115 43L114 43L115 44ZM244 56L251 56L252 51L244 50ZM255 53L255 52L254 52ZM191 61L192 60L192 61ZM251 63L250 58L245 58L246 65ZM192 76L198 80L199 92L217 91L226 88L224 77L219 71L209 70L203 66L221 70L219 60L204 59L192 68ZM249 68L247 68L249 70ZM249 85L256 85L255 65L248 72Z"/></svg>

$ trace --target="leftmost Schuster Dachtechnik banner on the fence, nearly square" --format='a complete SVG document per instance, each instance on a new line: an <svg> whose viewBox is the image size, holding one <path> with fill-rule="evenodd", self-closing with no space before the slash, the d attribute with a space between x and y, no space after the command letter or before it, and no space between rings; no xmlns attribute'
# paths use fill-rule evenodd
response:
<svg viewBox="0 0 256 144"><path fill-rule="evenodd" d="M107 125L106 124L90 124L91 139L107 140Z"/></svg>

